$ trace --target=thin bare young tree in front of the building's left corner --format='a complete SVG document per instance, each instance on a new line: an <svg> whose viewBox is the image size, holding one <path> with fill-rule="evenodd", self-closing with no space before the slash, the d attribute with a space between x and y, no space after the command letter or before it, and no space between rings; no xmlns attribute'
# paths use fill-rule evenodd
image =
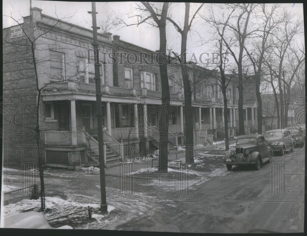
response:
<svg viewBox="0 0 307 236"><path fill-rule="evenodd" d="M44 91L47 87L50 87L52 86L52 84L57 83L57 82L69 81L70 79L75 78L77 74L74 74L67 78L64 78L63 76L59 75L59 73L56 73L53 75L49 74L49 76L52 76L53 82L45 83L44 85L41 85L40 83L41 74L38 72L38 66L39 64L45 63L47 60L44 60L44 59L37 60L36 52L39 52L40 50L37 47L40 44L39 43L40 38L51 33L54 29L56 29L56 27L61 25L61 21L63 19L70 18L70 17L65 17L62 19L52 18L51 20L47 22L42 22L41 19L37 19L32 16L32 11L29 17L23 17L24 18L23 23L20 23L20 20L15 19L14 17L12 17L12 15L5 15L5 17L8 17L16 22L17 26L19 26L22 31L22 34L21 34L22 37L19 40L12 39L10 37L10 32L7 33L6 35L3 35L4 47L10 47L12 50L11 53L13 53L13 50L15 50L17 55L18 54L20 56L26 55L29 58L29 60L27 60L24 63L33 65L33 72L31 73L31 76L34 75L33 77L34 77L35 85L36 85L35 90L37 92L35 127L26 126L25 128L33 131L37 148L41 150L41 131L42 130L40 128L40 106L42 103L41 101L42 95L44 94ZM69 29L70 27L65 30L69 30ZM41 50L44 50L44 49L41 49ZM28 83L31 83L31 82L32 81L28 81ZM40 185L41 185L41 188L40 188L41 211L44 211L45 209L45 187L44 187L44 175L43 175L41 158L38 159L38 169L39 169Z"/></svg>

